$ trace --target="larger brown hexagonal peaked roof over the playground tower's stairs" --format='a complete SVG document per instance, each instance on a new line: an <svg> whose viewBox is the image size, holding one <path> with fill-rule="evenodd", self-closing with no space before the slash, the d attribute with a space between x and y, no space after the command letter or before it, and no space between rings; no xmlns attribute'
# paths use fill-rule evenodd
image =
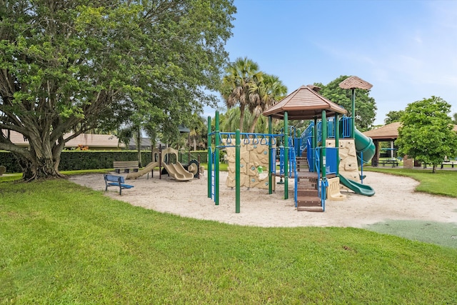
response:
<svg viewBox="0 0 457 305"><path fill-rule="evenodd" d="M271 116L275 119L284 119L287 111L289 120L314 119L322 117L322 111L327 116L335 114L346 114L347 111L341 106L333 103L316 92L318 87L313 85L301 86L286 96L284 99L263 111L264 116Z"/></svg>

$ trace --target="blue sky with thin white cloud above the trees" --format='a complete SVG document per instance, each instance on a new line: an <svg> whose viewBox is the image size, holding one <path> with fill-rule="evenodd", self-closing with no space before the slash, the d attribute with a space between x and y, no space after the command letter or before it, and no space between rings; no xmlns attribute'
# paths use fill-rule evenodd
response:
<svg viewBox="0 0 457 305"><path fill-rule="evenodd" d="M457 112L456 0L235 0L230 61L247 56L291 93L355 75L378 111L440 96ZM205 115L211 115L210 111Z"/></svg>

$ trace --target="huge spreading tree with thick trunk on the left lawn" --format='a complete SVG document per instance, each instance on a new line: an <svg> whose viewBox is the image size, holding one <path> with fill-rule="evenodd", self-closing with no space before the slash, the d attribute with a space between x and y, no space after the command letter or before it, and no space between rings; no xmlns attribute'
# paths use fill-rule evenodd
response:
<svg viewBox="0 0 457 305"><path fill-rule="evenodd" d="M147 124L165 138L215 105L231 0L0 0L0 149L61 176L66 141ZM15 146L9 131L29 141Z"/></svg>

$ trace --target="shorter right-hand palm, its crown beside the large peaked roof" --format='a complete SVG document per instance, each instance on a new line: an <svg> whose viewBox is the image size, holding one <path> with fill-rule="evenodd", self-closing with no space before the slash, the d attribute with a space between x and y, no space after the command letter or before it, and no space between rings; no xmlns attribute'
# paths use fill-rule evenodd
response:
<svg viewBox="0 0 457 305"><path fill-rule="evenodd" d="M263 74L256 84L249 89L248 109L253 114L253 121L248 132L254 132L259 116L287 94L287 87L275 75Z"/></svg>

